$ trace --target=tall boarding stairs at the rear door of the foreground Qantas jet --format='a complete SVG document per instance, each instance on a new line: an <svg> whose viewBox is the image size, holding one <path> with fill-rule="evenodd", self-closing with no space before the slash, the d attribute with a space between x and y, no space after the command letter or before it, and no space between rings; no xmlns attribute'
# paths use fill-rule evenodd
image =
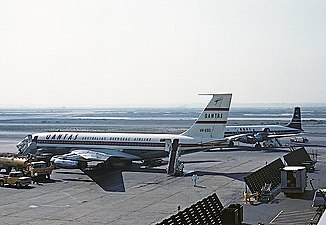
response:
<svg viewBox="0 0 326 225"><path fill-rule="evenodd" d="M169 152L169 161L166 168L166 172L169 175L177 176L183 174L183 164L180 162L180 148L179 148L179 139L165 140L165 151Z"/></svg>

